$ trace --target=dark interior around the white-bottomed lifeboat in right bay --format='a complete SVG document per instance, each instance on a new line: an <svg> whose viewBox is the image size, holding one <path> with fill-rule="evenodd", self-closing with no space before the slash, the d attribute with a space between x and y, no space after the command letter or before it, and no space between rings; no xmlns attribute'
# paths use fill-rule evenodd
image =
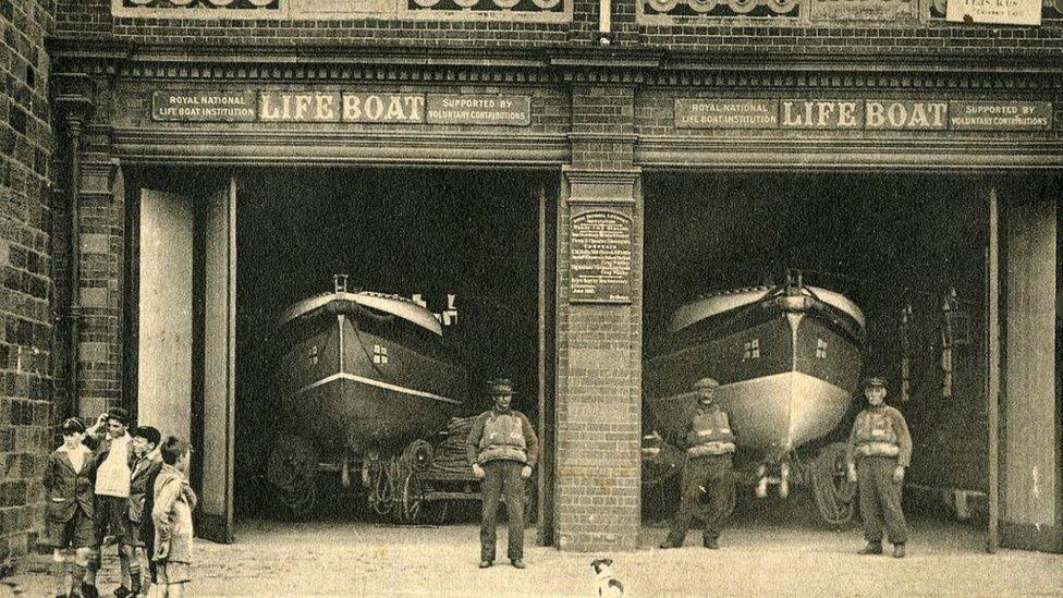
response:
<svg viewBox="0 0 1063 598"><path fill-rule="evenodd" d="M717 291L777 285L799 273L806 284L844 294L867 320L865 371L891 378L887 401L902 408L912 431L907 508L917 516L953 518L949 492L969 490L963 516L985 526L989 205L977 184L965 175L913 173L646 174L647 352L667 338L676 307ZM941 368L945 303L958 315L950 392ZM902 405L905 354L911 392ZM858 394L834 431L798 454L810 457L817 447L844 441L864 405ZM651 420L644 404L644 427ZM675 481L644 487L644 518L671 512ZM805 503L803 515L815 521L808 495L798 487L786 500ZM740 517L786 509L778 497L758 501L748 487L740 487L738 497Z"/></svg>

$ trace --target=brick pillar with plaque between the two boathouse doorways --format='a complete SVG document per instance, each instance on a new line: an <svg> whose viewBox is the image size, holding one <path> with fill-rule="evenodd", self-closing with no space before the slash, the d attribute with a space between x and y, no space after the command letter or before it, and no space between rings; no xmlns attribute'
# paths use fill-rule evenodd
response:
<svg viewBox="0 0 1063 598"><path fill-rule="evenodd" d="M632 168L632 101L630 87L573 88L573 163L563 170L558 213L554 538L561 550L638 546L643 206ZM630 272L620 278L630 285L596 285L583 269L606 266L603 257L588 257L597 251L583 236L588 218L612 222L613 258L616 240L626 235Z"/></svg>

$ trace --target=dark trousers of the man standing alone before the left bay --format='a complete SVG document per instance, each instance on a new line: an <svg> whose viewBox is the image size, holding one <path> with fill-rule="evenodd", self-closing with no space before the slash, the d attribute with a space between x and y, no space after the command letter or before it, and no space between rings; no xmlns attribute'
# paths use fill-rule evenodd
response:
<svg viewBox="0 0 1063 598"><path fill-rule="evenodd" d="M524 463L499 459L484 464L484 481L480 492L484 500L484 518L480 522L480 560L494 560L496 524L498 503L505 492L505 511L510 520L506 557L511 561L524 558L524 480L521 469Z"/></svg>

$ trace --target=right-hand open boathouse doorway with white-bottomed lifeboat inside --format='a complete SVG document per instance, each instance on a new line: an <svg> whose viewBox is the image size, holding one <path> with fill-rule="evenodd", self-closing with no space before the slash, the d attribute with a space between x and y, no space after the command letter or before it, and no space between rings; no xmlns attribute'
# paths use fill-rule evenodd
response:
<svg viewBox="0 0 1063 598"><path fill-rule="evenodd" d="M1063 490L1034 497L1028 474L1060 463L1038 332L1058 327L1058 178L657 171L644 190L644 520L674 512L668 439L711 376L742 447L738 525L857 525L842 443L878 373L913 436L913 520L993 546L1051 521ZM787 294L819 314L794 318Z"/></svg>

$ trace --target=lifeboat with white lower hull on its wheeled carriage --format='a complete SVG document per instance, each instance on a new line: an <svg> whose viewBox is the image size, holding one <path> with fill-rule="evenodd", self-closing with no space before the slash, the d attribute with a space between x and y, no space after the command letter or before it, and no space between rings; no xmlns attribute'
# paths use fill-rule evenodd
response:
<svg viewBox="0 0 1063 598"><path fill-rule="evenodd" d="M736 468L765 497L777 486L811 485L828 522L852 517L845 446L811 461L797 450L826 437L845 417L864 363L864 314L841 293L805 285L737 289L676 309L668 338L645 361L644 401L653 432L644 439L644 481L662 481L682 453L671 447L696 408L695 380L720 382L717 400L738 437Z"/></svg>

